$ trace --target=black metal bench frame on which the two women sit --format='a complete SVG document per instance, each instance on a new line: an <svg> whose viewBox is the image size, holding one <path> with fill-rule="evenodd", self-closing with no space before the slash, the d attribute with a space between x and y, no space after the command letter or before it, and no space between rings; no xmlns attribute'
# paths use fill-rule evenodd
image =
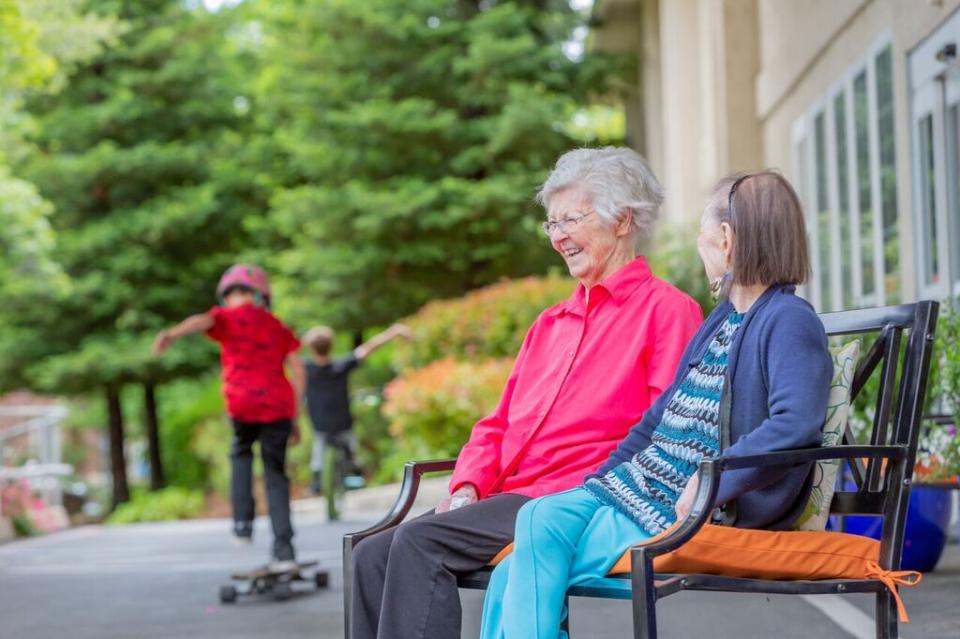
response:
<svg viewBox="0 0 960 639"><path fill-rule="evenodd" d="M633 602L634 637L656 639L657 600L681 590L805 595L875 593L876 636L882 639L896 638L898 619L893 595L883 583L876 580L778 581L705 574L655 575L653 558L679 548L708 522L723 471L841 459L857 489L838 490L830 506L831 512L838 515L880 515L883 518L883 532L878 563L885 570L899 570L938 308L937 302L924 301L821 314L823 325L831 337L861 335L873 338L872 345L860 358L851 388L851 395L856 398L868 379L874 374L879 375L869 444L857 445L848 428L843 444L839 446L704 460L700 465L702 479L699 490L687 518L667 536L631 550L632 573L622 576L629 580L629 589L587 584L571 588L567 596L630 599ZM400 494L390 512L370 528L344 537L346 637L350 637L351 555L354 546L365 537L402 522L413 506L421 477L427 473L451 471L455 461L407 463ZM487 568L464 575L459 585L462 588L485 589L489 574L490 569Z"/></svg>

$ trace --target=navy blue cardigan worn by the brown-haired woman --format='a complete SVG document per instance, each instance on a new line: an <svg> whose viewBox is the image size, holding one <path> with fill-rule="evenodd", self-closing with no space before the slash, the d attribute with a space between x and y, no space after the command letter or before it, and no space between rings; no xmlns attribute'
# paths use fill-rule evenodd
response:
<svg viewBox="0 0 960 639"><path fill-rule="evenodd" d="M687 345L673 384L599 468L603 475L650 445L667 402L687 370L703 358L733 305L724 302L707 317ZM721 456L755 455L819 446L827 411L833 363L827 336L813 307L794 287L768 288L754 302L730 345L724 402L730 418L721 437ZM734 502L733 525L784 530L792 527L810 493L812 464L726 471L716 505Z"/></svg>

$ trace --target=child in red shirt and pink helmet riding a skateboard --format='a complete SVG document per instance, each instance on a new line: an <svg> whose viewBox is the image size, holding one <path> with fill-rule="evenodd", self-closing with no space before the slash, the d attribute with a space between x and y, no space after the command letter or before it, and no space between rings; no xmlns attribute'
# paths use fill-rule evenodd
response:
<svg viewBox="0 0 960 639"><path fill-rule="evenodd" d="M253 536L252 447L259 440L274 565L289 568L295 554L290 481L284 466L287 441L296 444L300 439L296 424L304 387L303 361L297 357L300 342L270 312L270 283L262 268L230 267L217 285L217 298L219 306L157 334L153 350L162 353L175 339L200 332L220 343L223 394L234 431L230 449L233 532L244 542Z"/></svg>

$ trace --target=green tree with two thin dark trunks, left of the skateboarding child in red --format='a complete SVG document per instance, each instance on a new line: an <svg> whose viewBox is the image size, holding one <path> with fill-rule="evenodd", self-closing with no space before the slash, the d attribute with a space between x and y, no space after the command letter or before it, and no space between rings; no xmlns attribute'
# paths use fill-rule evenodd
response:
<svg viewBox="0 0 960 639"><path fill-rule="evenodd" d="M156 428L155 386L212 365L214 349L196 342L154 359L150 339L213 301L217 277L247 244L245 218L267 195L245 168L244 61L231 14L179 0L90 6L127 30L56 96L29 100L36 126L19 167L54 206L69 286L23 296L17 324L34 334L21 358L31 385L104 394L116 504L129 496L120 389L144 386L145 422ZM159 465L152 483L162 485Z"/></svg>

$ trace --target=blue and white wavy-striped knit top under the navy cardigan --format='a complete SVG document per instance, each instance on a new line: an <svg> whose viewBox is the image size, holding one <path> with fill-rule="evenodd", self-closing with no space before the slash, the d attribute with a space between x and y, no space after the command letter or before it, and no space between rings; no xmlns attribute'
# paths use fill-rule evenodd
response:
<svg viewBox="0 0 960 639"><path fill-rule="evenodd" d="M743 314L731 312L663 411L651 443L607 474L587 479L585 488L624 513L648 534L676 521L674 506L701 458L720 452L720 397L727 354Z"/></svg>

